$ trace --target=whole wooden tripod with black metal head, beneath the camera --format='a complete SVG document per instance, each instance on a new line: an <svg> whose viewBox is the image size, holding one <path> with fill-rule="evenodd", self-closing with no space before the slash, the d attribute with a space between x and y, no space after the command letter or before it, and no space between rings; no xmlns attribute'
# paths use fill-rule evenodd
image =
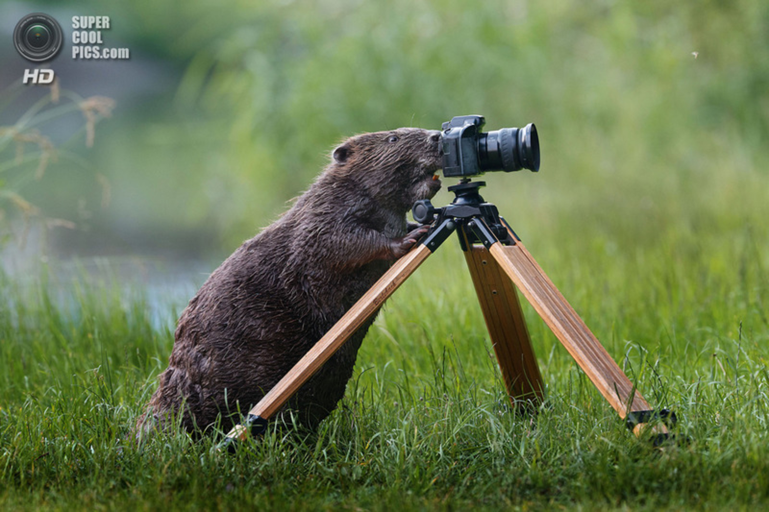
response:
<svg viewBox="0 0 769 512"><path fill-rule="evenodd" d="M646 430L645 424L657 418L674 422L673 413L664 409L651 410L634 384L534 261L518 235L499 216L497 207L483 201L478 188L484 185L483 181L463 180L459 185L449 187L448 190L453 191L456 198L439 210L426 200L415 204L414 219L431 224L424 239L395 261L379 281L249 411L245 421L227 434L220 447L231 447L232 441L243 440L249 433L264 432L268 419L454 231L459 235L494 353L513 404L537 404L542 400L544 391L515 291L518 288L634 434L641 435ZM667 438L667 427L661 422L655 421L649 430L654 444Z"/></svg>

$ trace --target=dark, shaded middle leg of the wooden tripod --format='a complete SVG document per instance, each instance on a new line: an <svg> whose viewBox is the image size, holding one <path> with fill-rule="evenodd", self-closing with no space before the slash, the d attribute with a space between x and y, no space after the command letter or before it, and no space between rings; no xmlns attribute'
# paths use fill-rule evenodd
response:
<svg viewBox="0 0 769 512"><path fill-rule="evenodd" d="M544 384L518 293L484 247L470 246L464 257L511 402L524 407L540 403Z"/></svg>

